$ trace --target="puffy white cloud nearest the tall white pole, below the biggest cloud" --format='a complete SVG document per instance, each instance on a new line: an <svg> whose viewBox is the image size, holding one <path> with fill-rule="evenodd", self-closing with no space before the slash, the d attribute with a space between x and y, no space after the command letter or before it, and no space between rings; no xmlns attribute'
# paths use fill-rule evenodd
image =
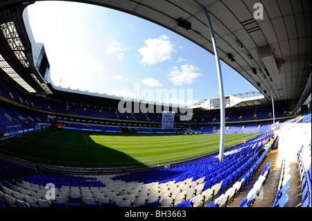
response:
<svg viewBox="0 0 312 221"><path fill-rule="evenodd" d="M199 69L193 65L183 64L181 65L181 71L175 66L172 68L171 72L168 73L168 79L171 80L175 86L189 85L193 83L196 78L202 76L202 73L196 73L195 71L199 71Z"/></svg>

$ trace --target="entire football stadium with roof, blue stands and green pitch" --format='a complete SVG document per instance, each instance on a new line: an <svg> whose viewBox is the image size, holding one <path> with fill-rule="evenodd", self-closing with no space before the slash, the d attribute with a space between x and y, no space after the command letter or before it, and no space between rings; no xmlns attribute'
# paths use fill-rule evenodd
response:
<svg viewBox="0 0 312 221"><path fill-rule="evenodd" d="M196 210L186 207L311 207L310 0L73 1L156 24L211 55L215 87L198 88L189 105L56 86L28 17L44 2L0 2L0 214L98 207L155 218L154 207L182 220ZM122 60L128 48L111 46ZM228 92L222 74L240 86L225 66L254 90Z"/></svg>

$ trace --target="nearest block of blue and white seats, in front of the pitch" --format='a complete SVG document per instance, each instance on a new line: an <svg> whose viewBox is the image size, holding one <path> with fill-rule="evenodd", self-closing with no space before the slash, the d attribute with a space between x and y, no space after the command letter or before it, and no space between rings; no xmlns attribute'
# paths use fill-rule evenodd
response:
<svg viewBox="0 0 312 221"><path fill-rule="evenodd" d="M257 170L266 152L259 157L258 152L272 133L259 136L257 139L242 144L231 150L227 160L218 163L216 157L207 157L190 163L182 163L175 168L161 168L148 172L132 173L130 175L98 175L98 176L73 176L55 173L42 173L26 176L24 178L1 181L1 195L8 206L17 206L17 200L21 200L35 206L72 206L68 203L77 202L72 199L75 196L80 204L87 207L89 203L107 201L116 202L116 206L136 205L141 197L144 206L149 202L159 202L159 206L177 205L177 195L182 196L182 202L189 201L192 206L204 206L212 196L227 191L243 175L247 181L250 170ZM258 145L259 144L259 145ZM250 147L252 147L250 149ZM238 157L240 160L233 158ZM250 158L251 157L251 158ZM259 157L259 159L257 159ZM257 161L256 161L257 159ZM189 168L189 170L185 170ZM216 173L218 170L218 173ZM237 172L237 173L236 173ZM171 175L175 174L175 175ZM8 176L10 177L10 176ZM144 179L138 179L144 177ZM46 183L55 184L55 200L50 204L46 202ZM218 186L218 188L216 187ZM207 195L207 188L213 190ZM243 187L241 187L243 188ZM177 192L173 194L173 191ZM238 190L237 190L238 191ZM16 192L16 193L15 193ZM13 194L14 193L14 194ZM19 193L19 194L18 194ZM105 195L103 194L105 193ZM203 197L202 193L205 193ZM14 195L19 195L18 199ZM207 199L208 198L208 199ZM180 202L181 203L181 202ZM121 205L122 204L122 205Z"/></svg>

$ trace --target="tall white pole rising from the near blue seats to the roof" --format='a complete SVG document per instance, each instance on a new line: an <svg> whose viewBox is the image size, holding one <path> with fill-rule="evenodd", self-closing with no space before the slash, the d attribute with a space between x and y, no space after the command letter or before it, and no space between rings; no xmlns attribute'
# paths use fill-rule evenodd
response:
<svg viewBox="0 0 312 221"><path fill-rule="evenodd" d="M223 79L221 73L221 65L220 58L218 53L218 46L216 45L216 38L214 37L214 29L212 28L212 24L208 14L208 6L202 6L202 9L205 10L211 41L214 46L214 56L216 58L216 67L218 71L218 82L219 82L219 93L220 93L220 150L219 150L219 160L223 162L224 159L224 138L225 138L225 102L224 102L224 92L223 92Z"/></svg>

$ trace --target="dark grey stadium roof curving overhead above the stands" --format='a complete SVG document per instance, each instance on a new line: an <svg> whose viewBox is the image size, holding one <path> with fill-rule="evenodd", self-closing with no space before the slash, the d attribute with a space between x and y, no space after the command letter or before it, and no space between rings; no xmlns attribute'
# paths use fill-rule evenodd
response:
<svg viewBox="0 0 312 221"><path fill-rule="evenodd" d="M15 21L17 32L29 53L26 30L21 12L35 1L15 0L0 2L0 22ZM147 19L173 30L207 51L213 46L207 19L202 6L209 7L209 15L220 59L229 64L270 101L270 91L275 100L299 100L311 73L311 1L283 0L260 1L263 19L255 19L259 8L257 0L90 0L76 1L113 8ZM260 8L261 9L261 8ZM259 14L261 15L261 14ZM256 17L257 18L257 17ZM183 26L188 21L189 26ZM185 24L185 23L184 23ZM0 53L13 69L23 69L0 35ZM24 67L26 68L26 67ZM22 71L24 80L35 90L41 90L29 71Z"/></svg>

